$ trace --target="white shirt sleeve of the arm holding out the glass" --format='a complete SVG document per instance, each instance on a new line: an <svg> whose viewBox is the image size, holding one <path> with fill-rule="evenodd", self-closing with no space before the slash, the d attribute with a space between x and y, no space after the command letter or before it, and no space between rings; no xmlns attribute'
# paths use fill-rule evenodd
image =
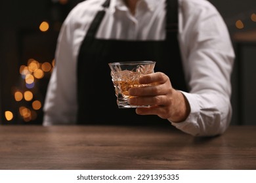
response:
<svg viewBox="0 0 256 183"><path fill-rule="evenodd" d="M182 93L190 104L191 112L184 122L169 121L194 136L219 135L227 129L232 116L232 42L221 15L213 5L205 2L198 6L192 1L190 5L184 3L181 7L181 11L186 13L180 14L179 39L189 87L188 93Z"/></svg>

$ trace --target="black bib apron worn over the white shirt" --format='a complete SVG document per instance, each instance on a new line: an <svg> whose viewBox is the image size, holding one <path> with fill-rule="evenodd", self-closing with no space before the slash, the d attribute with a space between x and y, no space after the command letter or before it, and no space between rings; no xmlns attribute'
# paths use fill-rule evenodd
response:
<svg viewBox="0 0 256 183"><path fill-rule="evenodd" d="M169 76L173 88L186 91L177 41L177 0L167 0L164 41L96 39L105 11L99 11L83 40L77 60L77 124L169 125L156 115L138 115L135 108L119 109L108 63L114 61L156 61L155 72ZM108 8L110 0L102 5Z"/></svg>

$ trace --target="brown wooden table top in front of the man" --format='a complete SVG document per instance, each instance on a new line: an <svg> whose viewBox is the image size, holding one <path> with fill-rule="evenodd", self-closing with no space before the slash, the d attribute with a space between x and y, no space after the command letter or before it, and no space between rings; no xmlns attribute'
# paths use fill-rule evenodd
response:
<svg viewBox="0 0 256 183"><path fill-rule="evenodd" d="M256 126L200 138L172 126L2 125L0 169L256 169Z"/></svg>

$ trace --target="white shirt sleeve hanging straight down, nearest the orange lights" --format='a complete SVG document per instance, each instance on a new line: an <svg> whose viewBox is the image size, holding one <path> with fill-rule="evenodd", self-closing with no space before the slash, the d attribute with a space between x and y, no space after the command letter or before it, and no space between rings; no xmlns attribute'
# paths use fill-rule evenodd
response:
<svg viewBox="0 0 256 183"><path fill-rule="evenodd" d="M43 125L75 124L77 116L77 56L100 4L78 3L62 24L54 67L45 98ZM94 5L94 3L93 3ZM84 9L87 9L86 11Z"/></svg>

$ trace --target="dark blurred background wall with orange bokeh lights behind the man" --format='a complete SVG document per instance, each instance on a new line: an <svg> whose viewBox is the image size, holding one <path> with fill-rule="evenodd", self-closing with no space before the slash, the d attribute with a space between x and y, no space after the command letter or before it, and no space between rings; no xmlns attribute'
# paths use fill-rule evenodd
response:
<svg viewBox="0 0 256 183"><path fill-rule="evenodd" d="M0 124L41 124L58 32L79 2L0 1ZM232 73L232 124L255 124L256 1L210 2L223 16L238 52Z"/></svg>

